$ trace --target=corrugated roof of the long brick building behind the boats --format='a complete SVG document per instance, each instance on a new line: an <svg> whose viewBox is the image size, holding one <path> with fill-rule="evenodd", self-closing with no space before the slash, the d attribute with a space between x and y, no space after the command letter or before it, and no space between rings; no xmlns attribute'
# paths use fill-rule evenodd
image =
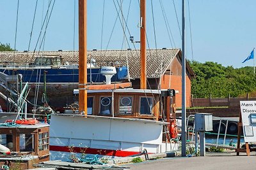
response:
<svg viewBox="0 0 256 170"><path fill-rule="evenodd" d="M180 49L147 50L147 77L159 77L161 69L164 73L179 52ZM60 55L64 62L78 64L78 51L0 52L0 62L33 62L40 55ZM126 66L128 60L131 78L140 78L140 50L92 50L87 55L87 60L95 59L97 66L114 66L116 62L120 66Z"/></svg>

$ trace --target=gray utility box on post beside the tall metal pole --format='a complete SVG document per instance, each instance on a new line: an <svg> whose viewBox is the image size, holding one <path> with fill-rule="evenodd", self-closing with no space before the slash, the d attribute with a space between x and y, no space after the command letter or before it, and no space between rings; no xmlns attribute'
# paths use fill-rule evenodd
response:
<svg viewBox="0 0 256 170"><path fill-rule="evenodd" d="M196 113L195 114L195 129L198 132L212 131L212 114L211 113Z"/></svg>

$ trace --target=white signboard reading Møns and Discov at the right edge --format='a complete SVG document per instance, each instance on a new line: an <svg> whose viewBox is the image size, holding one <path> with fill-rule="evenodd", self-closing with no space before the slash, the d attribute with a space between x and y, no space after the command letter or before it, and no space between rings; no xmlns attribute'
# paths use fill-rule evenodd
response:
<svg viewBox="0 0 256 170"><path fill-rule="evenodd" d="M256 142L256 101L240 101L244 141Z"/></svg>

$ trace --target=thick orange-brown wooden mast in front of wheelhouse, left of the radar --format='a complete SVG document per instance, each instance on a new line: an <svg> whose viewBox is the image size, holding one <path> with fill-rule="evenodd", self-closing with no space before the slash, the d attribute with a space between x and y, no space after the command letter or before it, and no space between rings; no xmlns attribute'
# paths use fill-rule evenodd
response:
<svg viewBox="0 0 256 170"><path fill-rule="evenodd" d="M87 115L86 0L79 0L79 113Z"/></svg>

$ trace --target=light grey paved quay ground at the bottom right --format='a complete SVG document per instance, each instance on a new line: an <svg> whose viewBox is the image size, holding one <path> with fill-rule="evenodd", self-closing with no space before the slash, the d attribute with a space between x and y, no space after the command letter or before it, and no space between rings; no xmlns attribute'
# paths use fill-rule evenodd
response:
<svg viewBox="0 0 256 170"><path fill-rule="evenodd" d="M244 153L207 153L205 157L173 157L149 160L136 164L126 164L131 169L256 169L256 155L248 157Z"/></svg>

